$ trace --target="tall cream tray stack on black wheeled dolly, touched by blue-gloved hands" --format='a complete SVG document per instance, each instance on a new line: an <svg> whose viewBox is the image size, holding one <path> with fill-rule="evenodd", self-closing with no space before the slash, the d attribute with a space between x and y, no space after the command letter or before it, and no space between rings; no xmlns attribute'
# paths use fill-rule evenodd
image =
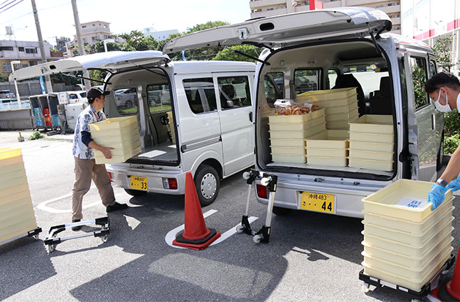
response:
<svg viewBox="0 0 460 302"><path fill-rule="evenodd" d="M427 195L433 183L400 179L364 202L363 290L387 286L422 299L454 263L452 192L435 211Z"/></svg>

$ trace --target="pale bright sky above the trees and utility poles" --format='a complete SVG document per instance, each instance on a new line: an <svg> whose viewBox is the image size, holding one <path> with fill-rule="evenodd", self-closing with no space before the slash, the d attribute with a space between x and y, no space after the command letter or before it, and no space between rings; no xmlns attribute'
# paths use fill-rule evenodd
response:
<svg viewBox="0 0 460 302"><path fill-rule="evenodd" d="M0 7L10 1L13 0L0 0ZM185 31L208 21L243 22L250 19L249 3L250 0L77 0L77 8L80 23L110 22L112 33L129 33L146 27ZM44 40L55 45L56 36L73 39L75 22L70 0L36 0L36 6ZM18 0L17 5L6 8L0 8L0 40L10 39L6 26L13 27L13 40L38 40L31 1Z"/></svg>

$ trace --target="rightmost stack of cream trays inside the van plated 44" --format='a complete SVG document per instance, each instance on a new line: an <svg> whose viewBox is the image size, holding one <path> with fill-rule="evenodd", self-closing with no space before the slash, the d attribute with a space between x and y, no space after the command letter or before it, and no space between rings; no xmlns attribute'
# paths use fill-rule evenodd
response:
<svg viewBox="0 0 460 302"><path fill-rule="evenodd" d="M392 171L393 148L393 116L364 115L350 123L350 167Z"/></svg>

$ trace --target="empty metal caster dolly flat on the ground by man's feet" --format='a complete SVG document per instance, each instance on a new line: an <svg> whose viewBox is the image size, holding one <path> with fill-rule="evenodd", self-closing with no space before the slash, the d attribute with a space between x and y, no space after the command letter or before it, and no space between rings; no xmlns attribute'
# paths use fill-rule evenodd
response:
<svg viewBox="0 0 460 302"><path fill-rule="evenodd" d="M68 227L78 227L80 225L91 225L92 223L95 225L100 225L101 228L94 232L89 232L85 234L57 237L57 234L65 231L66 228ZM94 220L72 222L67 225L56 225L54 227L50 227L44 243L45 243L45 246L47 246L48 252L53 252L56 246L63 241L67 241L70 239L89 237L89 236L100 237L100 239L102 239L102 242L106 242L109 237L109 218L108 217L95 218Z"/></svg>

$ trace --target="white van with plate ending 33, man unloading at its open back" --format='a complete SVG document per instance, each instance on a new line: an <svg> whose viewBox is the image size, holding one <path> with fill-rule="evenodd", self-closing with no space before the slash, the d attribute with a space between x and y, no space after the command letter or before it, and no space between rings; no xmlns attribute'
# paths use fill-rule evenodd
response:
<svg viewBox="0 0 460 302"><path fill-rule="evenodd" d="M185 192L192 172L202 206L214 202L220 179L254 165L252 86L256 64L174 61L157 51L76 56L10 75L23 80L82 69L105 70L107 117L137 116L141 153L107 165L130 195Z"/></svg>

